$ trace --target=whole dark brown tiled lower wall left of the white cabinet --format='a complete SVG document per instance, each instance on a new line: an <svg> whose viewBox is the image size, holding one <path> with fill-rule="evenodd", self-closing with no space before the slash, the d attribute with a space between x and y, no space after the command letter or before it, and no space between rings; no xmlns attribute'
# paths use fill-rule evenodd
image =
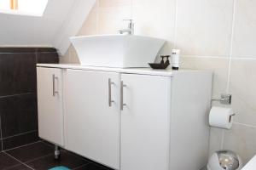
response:
<svg viewBox="0 0 256 170"><path fill-rule="evenodd" d="M56 49L0 48L0 132L2 128L3 150L38 140L37 132L28 133L38 129L37 63L59 63Z"/></svg>

